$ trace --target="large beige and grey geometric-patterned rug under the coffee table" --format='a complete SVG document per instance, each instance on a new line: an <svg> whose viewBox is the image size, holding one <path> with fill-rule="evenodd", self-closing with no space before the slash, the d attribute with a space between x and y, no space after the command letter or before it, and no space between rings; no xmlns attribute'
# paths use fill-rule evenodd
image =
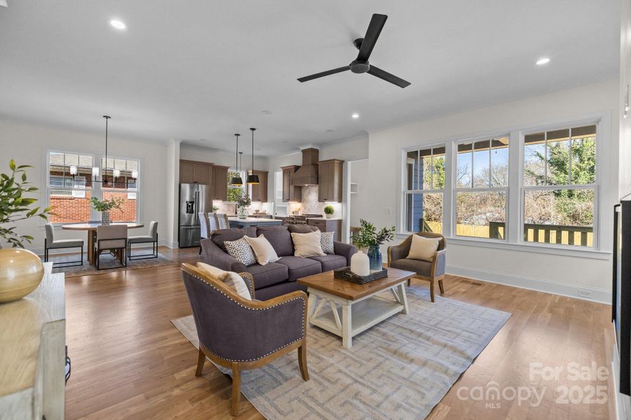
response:
<svg viewBox="0 0 631 420"><path fill-rule="evenodd" d="M407 297L409 314L356 335L351 349L309 326L309 381L293 351L244 371L241 392L269 420L424 419L511 314L439 296L432 303L419 286ZM172 323L198 348L192 315Z"/></svg>

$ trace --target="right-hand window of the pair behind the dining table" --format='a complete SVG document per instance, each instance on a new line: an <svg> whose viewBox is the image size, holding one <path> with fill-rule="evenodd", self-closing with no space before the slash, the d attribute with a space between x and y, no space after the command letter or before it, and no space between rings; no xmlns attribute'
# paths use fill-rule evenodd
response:
<svg viewBox="0 0 631 420"><path fill-rule="evenodd" d="M110 212L113 222L135 222L138 219L139 163L135 159L101 159L102 200L122 198L121 210Z"/></svg>

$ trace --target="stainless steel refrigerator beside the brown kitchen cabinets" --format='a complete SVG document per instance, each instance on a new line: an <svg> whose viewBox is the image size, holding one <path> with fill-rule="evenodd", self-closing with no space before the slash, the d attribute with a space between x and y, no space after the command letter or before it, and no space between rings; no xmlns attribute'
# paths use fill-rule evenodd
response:
<svg viewBox="0 0 631 420"><path fill-rule="evenodd" d="M200 212L212 211L210 186L179 184L179 247L199 246Z"/></svg>

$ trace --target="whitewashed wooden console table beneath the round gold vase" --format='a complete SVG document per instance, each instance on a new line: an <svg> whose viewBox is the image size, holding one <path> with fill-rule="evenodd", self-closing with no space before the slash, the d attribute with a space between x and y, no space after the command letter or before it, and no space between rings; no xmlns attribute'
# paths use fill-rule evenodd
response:
<svg viewBox="0 0 631 420"><path fill-rule="evenodd" d="M52 269L44 262L38 288L0 304L0 419L65 417L65 285Z"/></svg>

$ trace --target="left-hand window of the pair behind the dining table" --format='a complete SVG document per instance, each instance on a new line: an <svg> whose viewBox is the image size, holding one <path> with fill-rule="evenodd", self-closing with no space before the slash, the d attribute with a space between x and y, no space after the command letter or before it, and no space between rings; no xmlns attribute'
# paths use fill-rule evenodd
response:
<svg viewBox="0 0 631 420"><path fill-rule="evenodd" d="M46 195L52 212L50 223L90 221L94 158L79 153L49 152ZM74 173L74 174L73 174Z"/></svg>

